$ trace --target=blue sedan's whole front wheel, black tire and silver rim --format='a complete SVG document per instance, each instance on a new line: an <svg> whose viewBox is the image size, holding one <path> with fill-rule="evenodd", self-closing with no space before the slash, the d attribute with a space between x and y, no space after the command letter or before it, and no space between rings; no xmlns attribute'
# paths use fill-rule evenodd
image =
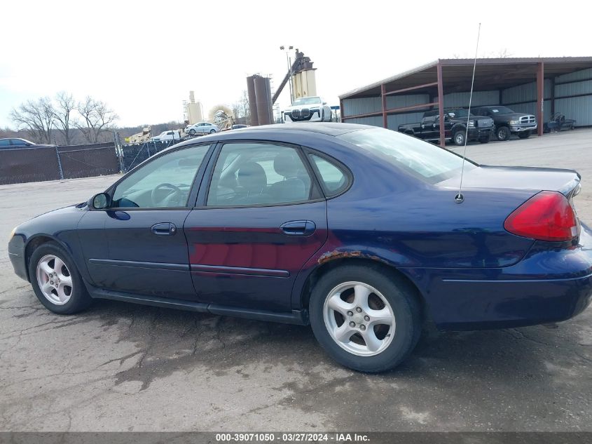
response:
<svg viewBox="0 0 592 444"><path fill-rule="evenodd" d="M74 314L92 301L74 260L57 243L44 243L34 250L29 260L29 276L39 302L54 313ZM47 286L42 289L43 282Z"/></svg>

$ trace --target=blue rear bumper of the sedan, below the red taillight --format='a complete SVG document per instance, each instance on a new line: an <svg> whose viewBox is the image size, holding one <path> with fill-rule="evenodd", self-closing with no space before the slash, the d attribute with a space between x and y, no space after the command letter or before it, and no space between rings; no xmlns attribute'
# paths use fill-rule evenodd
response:
<svg viewBox="0 0 592 444"><path fill-rule="evenodd" d="M401 271L418 284L442 330L565 321L592 300L592 231L582 224L579 245L572 248L550 250L535 243L511 267Z"/></svg>

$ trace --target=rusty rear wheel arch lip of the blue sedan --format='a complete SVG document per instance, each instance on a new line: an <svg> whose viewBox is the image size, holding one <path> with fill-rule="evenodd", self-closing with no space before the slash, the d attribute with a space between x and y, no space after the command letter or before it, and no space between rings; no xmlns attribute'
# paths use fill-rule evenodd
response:
<svg viewBox="0 0 592 444"><path fill-rule="evenodd" d="M336 257L333 260L329 260L319 264L315 269L313 269L310 274L308 274L304 285L302 286L301 294L300 294L300 307L301 309L308 309L308 303L310 301L310 293L312 292L312 288L314 287L315 283L324 276L324 274L328 273L332 269L336 269L337 267L342 267L343 265L356 265L359 267L370 266L373 268L378 268L383 271L385 274L390 274L391 276L398 276L404 285L406 285L406 290L410 292L416 300L418 300L421 309L422 319L425 321L427 319L431 319L429 315L429 307L427 306L427 302L425 300L424 295L418 285L416 285L409 276L404 274L400 271L397 267L392 264L389 264L383 260L380 260L378 257L357 257L352 255L347 255L344 253L340 255L340 257Z"/></svg>

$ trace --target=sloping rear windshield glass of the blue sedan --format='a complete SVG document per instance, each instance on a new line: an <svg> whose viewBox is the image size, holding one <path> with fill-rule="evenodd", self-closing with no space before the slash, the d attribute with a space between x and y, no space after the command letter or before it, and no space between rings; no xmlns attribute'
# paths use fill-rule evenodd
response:
<svg viewBox="0 0 592 444"><path fill-rule="evenodd" d="M454 177L462 167L462 157L457 154L384 128L354 131L337 137L430 184ZM467 159L464 168L472 170L476 164Z"/></svg>

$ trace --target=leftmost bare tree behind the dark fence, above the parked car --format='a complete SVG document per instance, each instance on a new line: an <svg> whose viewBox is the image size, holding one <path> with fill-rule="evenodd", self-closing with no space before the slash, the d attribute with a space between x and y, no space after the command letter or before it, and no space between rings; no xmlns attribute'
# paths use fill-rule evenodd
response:
<svg viewBox="0 0 592 444"><path fill-rule="evenodd" d="M41 97L36 102L28 100L18 108L13 108L10 118L18 129L27 130L35 142L51 143L55 109L49 97Z"/></svg>

